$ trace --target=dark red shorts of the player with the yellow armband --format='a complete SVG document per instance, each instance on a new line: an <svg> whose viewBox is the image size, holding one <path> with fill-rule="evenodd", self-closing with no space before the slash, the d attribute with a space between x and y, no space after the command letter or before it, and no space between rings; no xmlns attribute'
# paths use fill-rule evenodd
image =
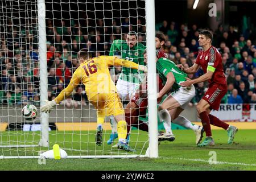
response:
<svg viewBox="0 0 256 182"><path fill-rule="evenodd" d="M228 92L227 85L210 84L207 92L203 96L203 100L207 101L210 109L218 110L221 99Z"/></svg>

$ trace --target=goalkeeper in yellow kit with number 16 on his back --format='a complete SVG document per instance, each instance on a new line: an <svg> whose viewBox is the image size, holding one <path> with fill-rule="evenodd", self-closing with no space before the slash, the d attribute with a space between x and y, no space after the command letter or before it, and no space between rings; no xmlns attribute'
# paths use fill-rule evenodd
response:
<svg viewBox="0 0 256 182"><path fill-rule="evenodd" d="M125 122L125 111L117 94L115 84L110 78L109 66L129 67L130 69L138 69L144 72L147 71L146 66L138 65L132 61L118 59L118 57L114 56L92 58L87 49L81 49L77 56L81 64L73 73L69 85L60 92L55 100L47 101L41 110L45 113L52 110L55 105L63 101L64 98L67 98L73 92L73 89L82 82L85 85L88 100L97 110L96 144L101 145L102 143L102 124L104 123L105 117L114 115L115 121L117 121L118 148L126 151L134 151L126 142L127 126Z"/></svg>

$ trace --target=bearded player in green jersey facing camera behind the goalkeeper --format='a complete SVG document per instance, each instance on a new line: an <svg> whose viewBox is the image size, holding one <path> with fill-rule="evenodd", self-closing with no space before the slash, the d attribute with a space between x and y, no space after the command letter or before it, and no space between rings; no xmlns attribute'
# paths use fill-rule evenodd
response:
<svg viewBox="0 0 256 182"><path fill-rule="evenodd" d="M138 36L135 31L130 31L127 33L125 40L114 40L112 46L110 47L110 56L114 56L115 52L120 52L122 59L133 61L134 63L145 65L143 52L146 47L138 43ZM117 81L117 92L122 100L130 100L135 94L136 90L139 88L140 75L138 72L131 68L122 67L122 72L119 75ZM112 144L113 140L117 138L117 125L114 122L114 118L110 117L110 124L112 127L112 134L110 134L110 139L108 144Z"/></svg>

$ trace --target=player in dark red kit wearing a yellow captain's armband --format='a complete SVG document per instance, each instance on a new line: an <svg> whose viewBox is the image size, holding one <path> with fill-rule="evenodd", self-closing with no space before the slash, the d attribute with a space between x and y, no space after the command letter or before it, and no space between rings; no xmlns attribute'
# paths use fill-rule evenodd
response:
<svg viewBox="0 0 256 182"><path fill-rule="evenodd" d="M212 131L210 124L228 131L228 144L231 144L234 139L234 135L237 132L237 127L228 125L225 122L220 121L217 117L210 114L210 110L218 110L220 107L221 98L225 96L228 91L226 84L226 77L222 67L222 58L220 52L216 47L212 46L212 33L204 30L199 33L199 45L203 47L203 51L199 52L196 58L196 63L192 67L185 69L182 65L179 65L181 70L188 74L196 73L200 68L203 69L204 75L191 80L187 78L187 81L182 82L181 86L189 86L203 81L209 81L209 88L205 92L203 98L197 104L196 109L200 115L201 122L203 124L207 137L203 143L198 146L211 146L214 145L212 138Z"/></svg>

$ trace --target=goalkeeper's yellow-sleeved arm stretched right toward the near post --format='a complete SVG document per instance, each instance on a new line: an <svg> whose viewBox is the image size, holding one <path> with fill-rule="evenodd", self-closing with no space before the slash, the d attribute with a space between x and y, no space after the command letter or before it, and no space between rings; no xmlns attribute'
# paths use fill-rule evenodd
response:
<svg viewBox="0 0 256 182"><path fill-rule="evenodd" d="M101 59L104 59L108 65L122 66L131 69L138 69L139 71L147 72L147 67L144 65L139 65L133 61L128 61L125 59L119 59L115 56L100 56Z"/></svg>

